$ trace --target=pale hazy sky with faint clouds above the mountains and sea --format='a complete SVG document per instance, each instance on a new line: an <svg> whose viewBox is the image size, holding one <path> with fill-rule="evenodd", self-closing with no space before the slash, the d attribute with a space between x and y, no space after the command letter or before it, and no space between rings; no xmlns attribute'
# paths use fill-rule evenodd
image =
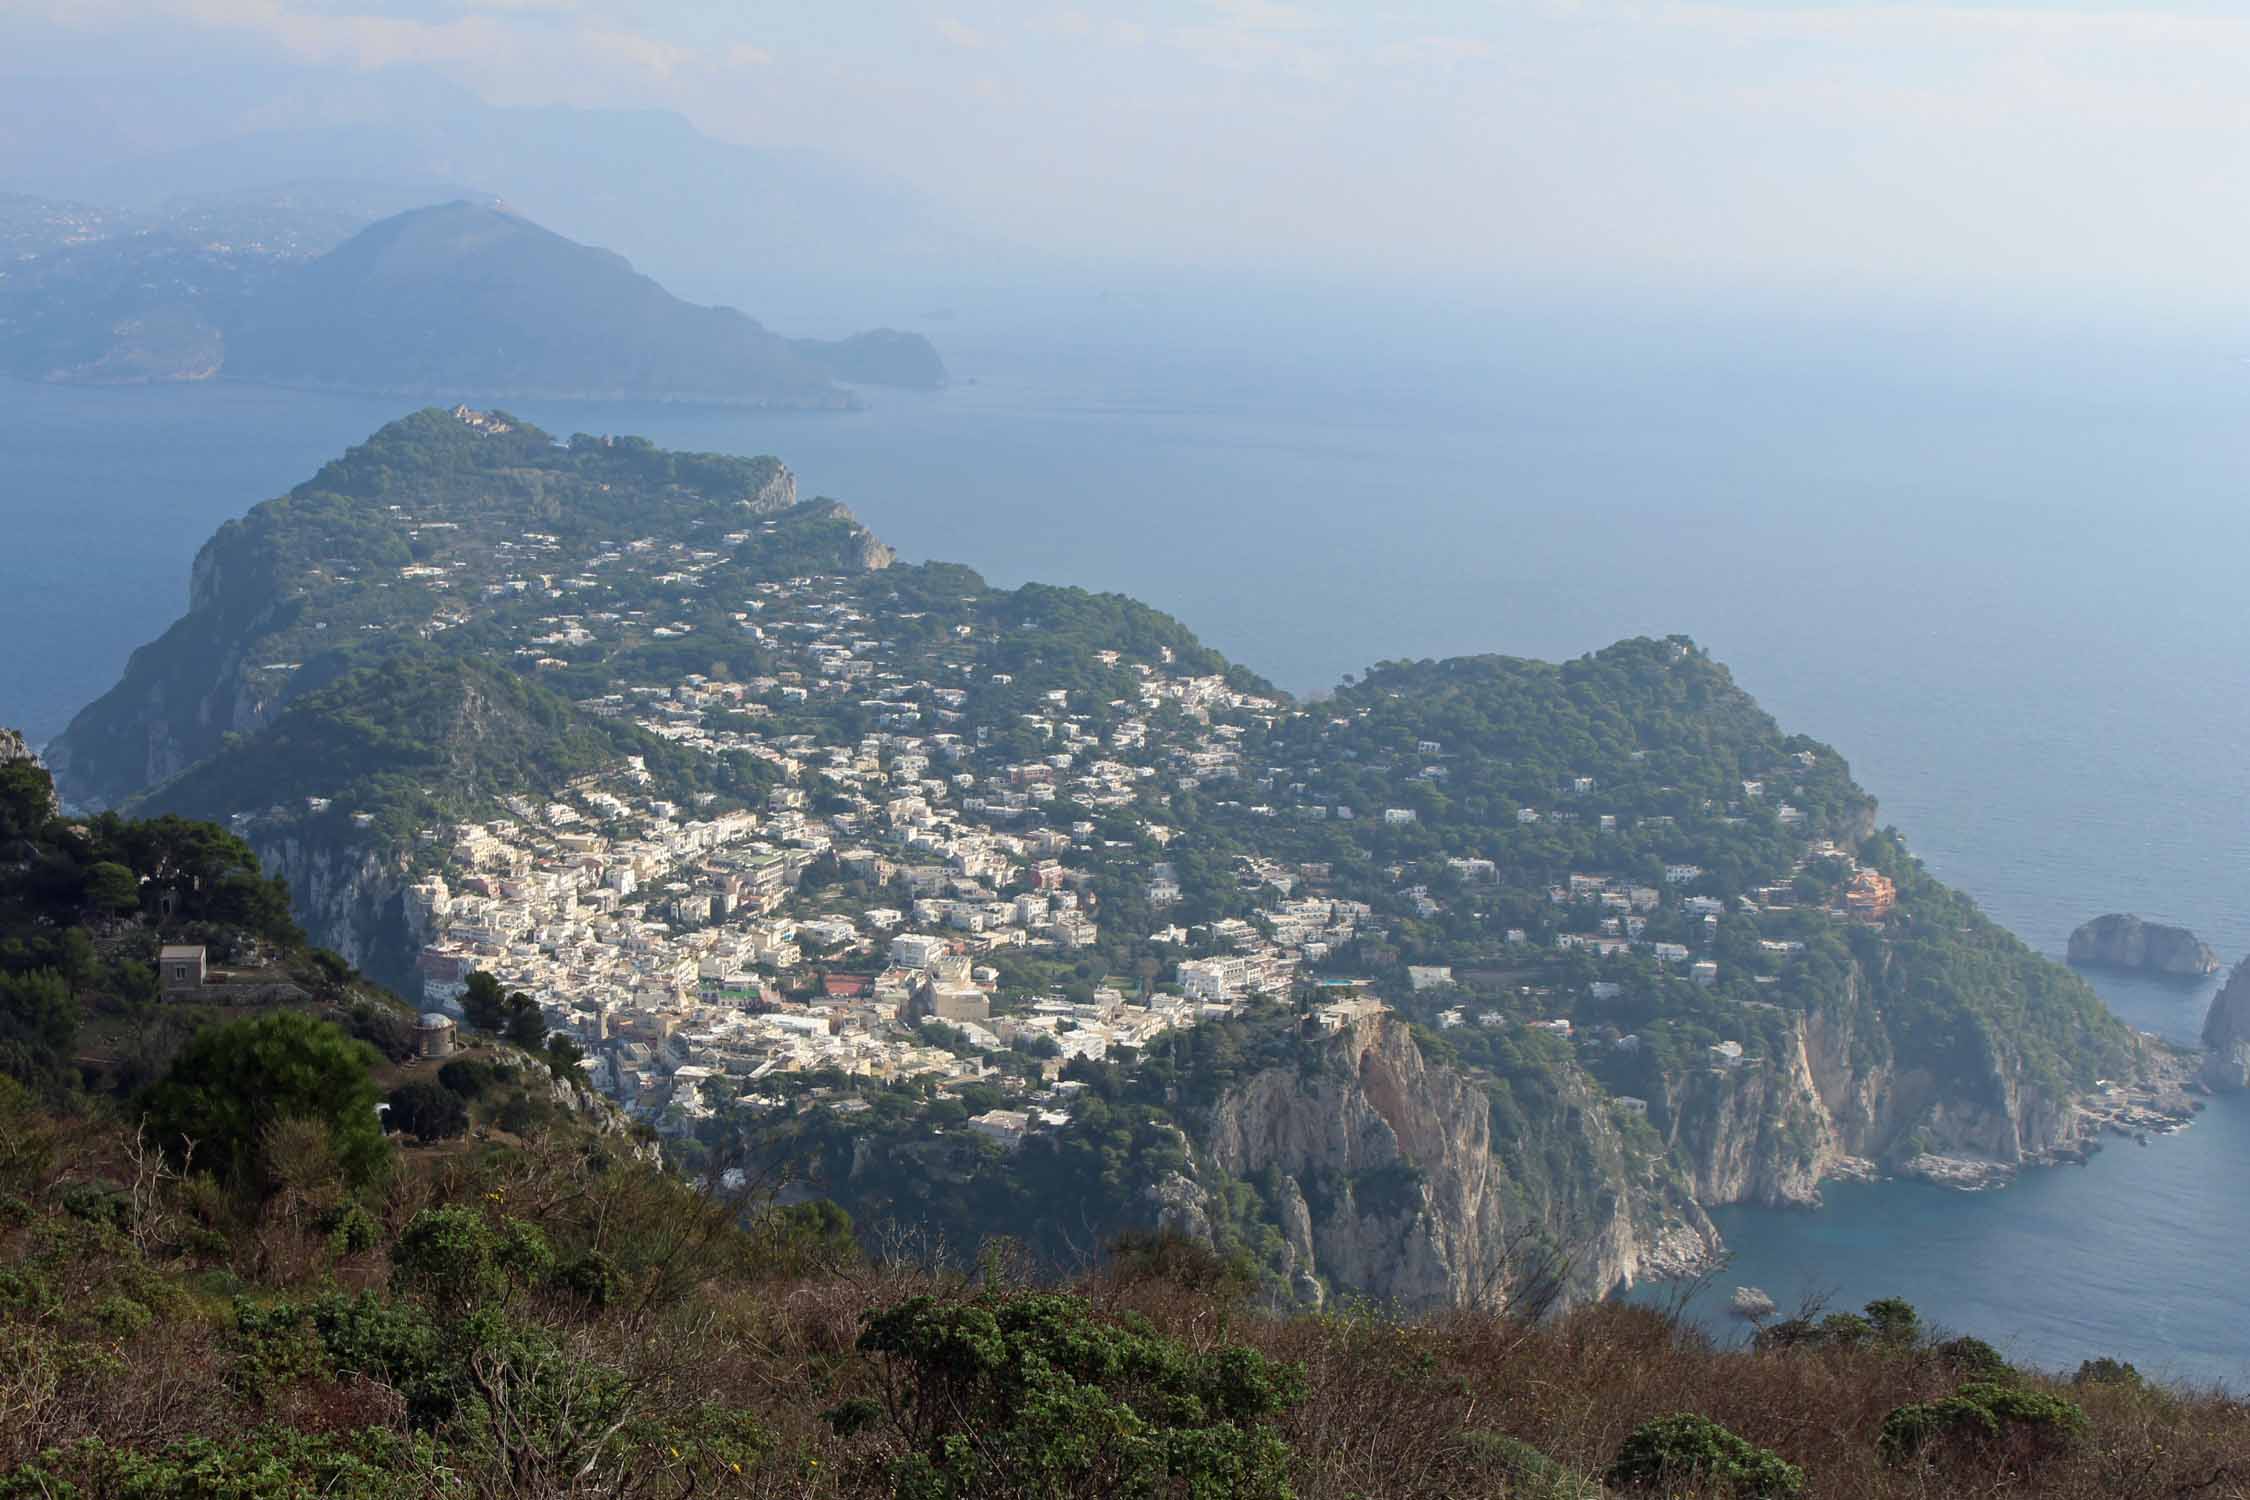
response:
<svg viewBox="0 0 2250 1500"><path fill-rule="evenodd" d="M106 101L124 137L410 108L412 63L1170 263L2232 310L2250 232L2250 4L2218 0L0 0L0 43L212 79L187 124Z"/></svg>

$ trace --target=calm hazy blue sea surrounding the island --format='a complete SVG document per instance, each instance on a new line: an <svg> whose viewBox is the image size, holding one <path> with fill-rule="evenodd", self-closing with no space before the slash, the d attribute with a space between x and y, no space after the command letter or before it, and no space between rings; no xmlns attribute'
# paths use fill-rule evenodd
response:
<svg viewBox="0 0 2250 1500"><path fill-rule="evenodd" d="M1685 632L2034 947L2102 911L2250 954L2250 364L2176 340L1719 317L1397 326L1058 308L934 324L868 412L515 403L776 452L909 558L1120 589L1307 693L1386 657ZM1148 315L1145 315L1148 313ZM1620 331L1622 328L1622 331ZM0 722L34 742L178 616L212 528L405 403L0 385ZM2192 1041L2212 987L2095 976ZM1901 1293L2014 1354L2250 1388L2250 1104L2005 1192L1724 1210L1737 1284Z"/></svg>

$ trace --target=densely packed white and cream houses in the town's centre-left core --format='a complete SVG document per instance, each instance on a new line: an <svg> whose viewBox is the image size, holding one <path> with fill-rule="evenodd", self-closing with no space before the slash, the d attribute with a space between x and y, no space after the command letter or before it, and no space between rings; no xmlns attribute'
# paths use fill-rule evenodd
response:
<svg viewBox="0 0 2250 1500"><path fill-rule="evenodd" d="M670 562L693 571L695 558ZM1033 999L994 1016L994 969L1006 949L1055 956L1096 942L1084 816L1134 803L1154 767L1107 751L1145 753L1150 731L1127 715L1107 744L1080 729L1051 695L1042 715L1053 753L979 776L976 742L950 724L972 688L907 681L889 670L866 621L832 600L842 580L760 585L745 627L792 641L801 666L772 681L691 677L668 688L632 688L585 708L630 717L704 753L745 751L781 778L758 810L698 816L652 796L646 762L587 776L542 801L513 798L511 816L425 830L436 868L410 891L410 924L423 938L418 976L430 1005L457 1007L468 974L490 969L533 994L551 1028L587 1050L587 1075L630 1111L664 1129L693 1129L711 1111L706 1082L754 1091L776 1073L837 1070L866 1079L927 1079L938 1086L990 1077L988 1061L932 1046L925 1025L945 1023L974 1046L1051 1041L1048 1073L1069 1057L1141 1048L1179 1025L1231 1014L1251 996L1287 999L1298 965L1318 963L1354 938L1368 906L1289 897L1294 877L1267 870L1282 900L1260 924L1226 920L1199 929L1208 956L1184 956L1170 976L1179 994L1127 999L1100 987L1091 1001ZM603 621L558 616L533 648L558 645ZM1112 652L1114 657L1114 652ZM1141 668L1150 708L1256 708L1222 679L1170 677ZM1001 681L999 686L1006 686ZM810 735L763 735L742 726L758 697L868 693L880 729L855 744ZM1271 704L1262 704L1271 706ZM1235 726L1215 724L1172 751L1181 776L1233 778ZM826 816L814 803L832 807ZM1152 830L1154 832L1154 830ZM1159 837L1161 841L1161 837ZM835 900L808 911L801 882L817 861L880 891L850 909ZM1152 906L1177 902L1170 866L1148 870ZM893 904L893 893L904 904ZM1188 929L1152 933L1186 947ZM810 965L824 985L785 999ZM994 1140L1040 1129L986 1122ZM994 1133L999 1131L999 1133Z"/></svg>

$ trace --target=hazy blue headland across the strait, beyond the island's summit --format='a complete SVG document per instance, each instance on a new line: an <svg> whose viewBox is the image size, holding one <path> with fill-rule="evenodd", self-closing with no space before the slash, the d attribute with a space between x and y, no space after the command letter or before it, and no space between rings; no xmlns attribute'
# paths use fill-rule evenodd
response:
<svg viewBox="0 0 2250 1500"><path fill-rule="evenodd" d="M706 400L846 409L934 389L918 333L788 340L673 297L608 250L493 202L446 202L288 259L142 234L27 261L0 369L61 382L254 380L414 398Z"/></svg>

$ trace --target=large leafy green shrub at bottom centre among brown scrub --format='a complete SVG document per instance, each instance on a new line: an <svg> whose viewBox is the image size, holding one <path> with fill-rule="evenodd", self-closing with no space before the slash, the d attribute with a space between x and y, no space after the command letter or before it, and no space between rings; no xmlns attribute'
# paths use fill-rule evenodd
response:
<svg viewBox="0 0 2250 1500"><path fill-rule="evenodd" d="M889 1424L907 1439L896 1493L1289 1493L1289 1448L1264 1424L1303 1399L1305 1379L1253 1349L1195 1354L1136 1318L1096 1318L1082 1298L983 1293L871 1313L860 1352L882 1363L886 1399L828 1419L842 1435Z"/></svg>

